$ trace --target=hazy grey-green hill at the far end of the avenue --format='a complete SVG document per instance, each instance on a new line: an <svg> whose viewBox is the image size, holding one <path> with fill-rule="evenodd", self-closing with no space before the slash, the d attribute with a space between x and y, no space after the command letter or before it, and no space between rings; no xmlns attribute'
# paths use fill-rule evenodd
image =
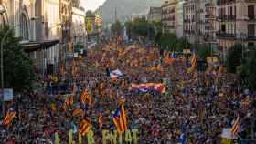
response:
<svg viewBox="0 0 256 144"><path fill-rule="evenodd" d="M117 18L125 21L130 15L147 14L150 6L161 6L165 0L106 0L105 3L96 11L102 12L103 23L114 21L115 8Z"/></svg>

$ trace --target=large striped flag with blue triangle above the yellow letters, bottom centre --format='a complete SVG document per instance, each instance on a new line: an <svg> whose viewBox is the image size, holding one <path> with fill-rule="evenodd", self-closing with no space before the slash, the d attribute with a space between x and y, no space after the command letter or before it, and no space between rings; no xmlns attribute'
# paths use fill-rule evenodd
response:
<svg viewBox="0 0 256 144"><path fill-rule="evenodd" d="M120 107L116 109L112 120L117 131L121 132L127 130L127 119L123 104L121 104Z"/></svg>

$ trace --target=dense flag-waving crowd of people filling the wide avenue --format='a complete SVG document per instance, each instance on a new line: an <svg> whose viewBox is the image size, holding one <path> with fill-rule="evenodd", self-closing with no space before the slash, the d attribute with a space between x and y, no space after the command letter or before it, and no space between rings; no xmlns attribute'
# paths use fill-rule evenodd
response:
<svg viewBox="0 0 256 144"><path fill-rule="evenodd" d="M84 109L85 116L91 118L97 144L102 143L102 129L115 129L112 116L120 99L128 129L139 129L140 144L219 144L222 129L231 128L236 118L240 118L237 134L242 138L253 135L255 93L242 89L237 76L216 68L187 72L190 65L186 58L179 56L167 63L165 57L169 56L168 52L160 55L154 46L110 43L91 49L85 57L75 59L72 75L61 74L75 84L72 106L63 110L65 96L60 94L15 97L7 107L16 111L16 117L9 127L1 125L2 143L53 143L55 132L59 133L59 143L68 143L69 129L78 129L81 120L72 116L72 110L81 108L82 89L91 95L91 105ZM123 76L109 77L115 69ZM132 84L147 82L165 83L165 93L130 89ZM54 111L52 104L57 106ZM75 141L77 136L74 134Z"/></svg>

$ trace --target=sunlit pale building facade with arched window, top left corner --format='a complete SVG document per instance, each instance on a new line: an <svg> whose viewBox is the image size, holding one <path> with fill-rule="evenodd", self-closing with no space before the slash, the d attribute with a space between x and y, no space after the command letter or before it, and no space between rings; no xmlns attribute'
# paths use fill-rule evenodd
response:
<svg viewBox="0 0 256 144"><path fill-rule="evenodd" d="M37 73L47 74L48 64L59 59L57 30L48 27L59 19L58 0L2 0L0 4L5 7L5 25L21 37L20 43L33 59Z"/></svg>

